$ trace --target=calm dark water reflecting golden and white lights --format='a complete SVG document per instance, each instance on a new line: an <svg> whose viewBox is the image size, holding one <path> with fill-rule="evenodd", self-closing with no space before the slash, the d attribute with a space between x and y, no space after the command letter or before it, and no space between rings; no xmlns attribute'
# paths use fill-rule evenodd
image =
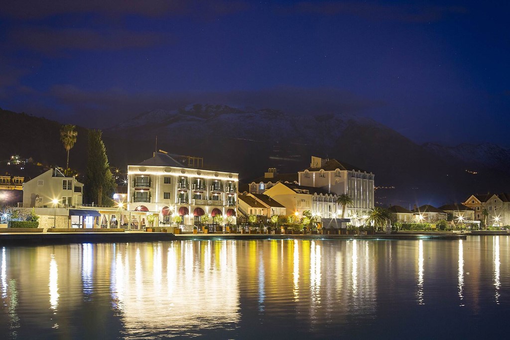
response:
<svg viewBox="0 0 510 340"><path fill-rule="evenodd" d="M0 338L507 338L510 238L0 248Z"/></svg>

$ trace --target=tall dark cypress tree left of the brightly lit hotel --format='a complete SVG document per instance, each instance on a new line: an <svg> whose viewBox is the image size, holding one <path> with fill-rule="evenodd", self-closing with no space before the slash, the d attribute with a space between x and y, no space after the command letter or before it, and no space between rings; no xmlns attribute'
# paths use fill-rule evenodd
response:
<svg viewBox="0 0 510 340"><path fill-rule="evenodd" d="M111 205L115 192L115 180L110 171L101 130L89 130L87 159L87 180L85 192L90 202L97 205Z"/></svg>

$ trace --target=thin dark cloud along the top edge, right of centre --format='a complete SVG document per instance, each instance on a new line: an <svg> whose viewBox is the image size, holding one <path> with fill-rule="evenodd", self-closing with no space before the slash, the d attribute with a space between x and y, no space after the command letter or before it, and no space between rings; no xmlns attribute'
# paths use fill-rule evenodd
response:
<svg viewBox="0 0 510 340"><path fill-rule="evenodd" d="M381 5L361 2L300 2L282 8L287 13L318 15L353 15L369 20L423 23L438 21L447 15L463 14L466 9L458 6Z"/></svg>

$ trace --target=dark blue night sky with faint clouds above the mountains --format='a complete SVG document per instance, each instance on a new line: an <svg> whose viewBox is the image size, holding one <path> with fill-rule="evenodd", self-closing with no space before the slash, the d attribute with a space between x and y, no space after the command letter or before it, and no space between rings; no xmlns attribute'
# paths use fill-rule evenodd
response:
<svg viewBox="0 0 510 340"><path fill-rule="evenodd" d="M190 102L510 146L507 2L8 1L0 107L89 127Z"/></svg>

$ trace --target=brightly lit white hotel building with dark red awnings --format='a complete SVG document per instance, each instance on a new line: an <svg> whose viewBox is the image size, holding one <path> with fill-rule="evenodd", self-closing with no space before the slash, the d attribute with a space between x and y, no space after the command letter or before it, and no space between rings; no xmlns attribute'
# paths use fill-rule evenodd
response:
<svg viewBox="0 0 510 340"><path fill-rule="evenodd" d="M237 173L192 169L164 152L127 167L127 210L159 213L159 224L180 216L192 226L202 215L237 215Z"/></svg>

